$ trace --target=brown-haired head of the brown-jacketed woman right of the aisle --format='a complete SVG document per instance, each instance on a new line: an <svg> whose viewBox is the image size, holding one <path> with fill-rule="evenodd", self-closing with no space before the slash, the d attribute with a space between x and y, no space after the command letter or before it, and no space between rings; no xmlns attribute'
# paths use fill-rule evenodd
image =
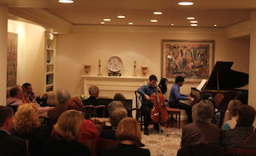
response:
<svg viewBox="0 0 256 156"><path fill-rule="evenodd" d="M213 115L214 112L211 101L199 101L198 106L195 108L196 121L203 124L211 124L211 118L213 118Z"/></svg>

